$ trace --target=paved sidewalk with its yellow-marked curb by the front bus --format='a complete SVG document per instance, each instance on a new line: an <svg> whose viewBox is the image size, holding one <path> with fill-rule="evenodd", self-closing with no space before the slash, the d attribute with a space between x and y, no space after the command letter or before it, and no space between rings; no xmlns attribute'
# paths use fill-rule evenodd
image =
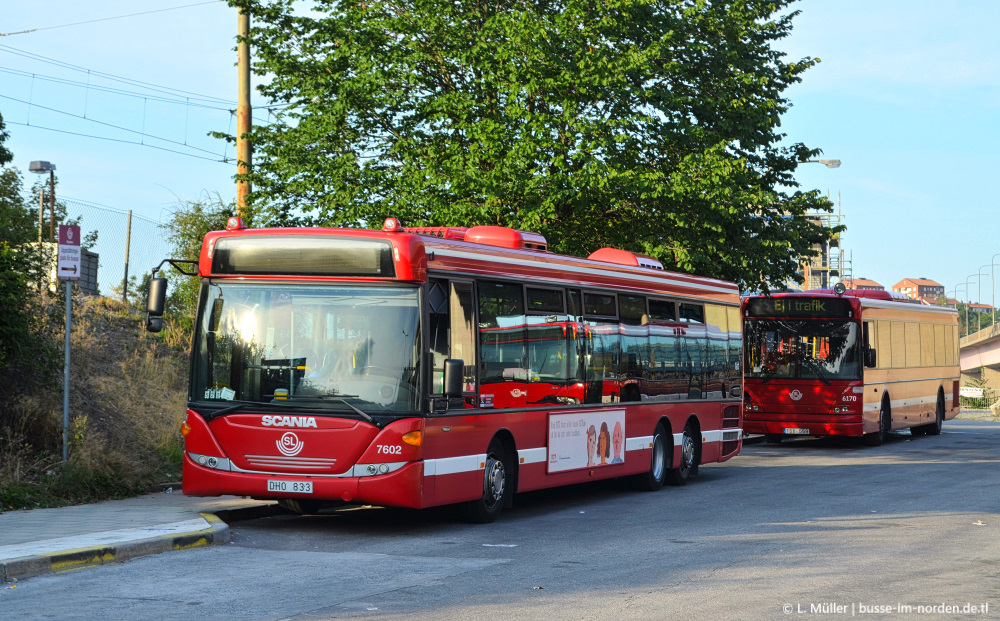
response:
<svg viewBox="0 0 1000 621"><path fill-rule="evenodd" d="M127 500L0 513L0 582L229 541L227 521L273 515L273 502L195 498L180 488Z"/></svg>

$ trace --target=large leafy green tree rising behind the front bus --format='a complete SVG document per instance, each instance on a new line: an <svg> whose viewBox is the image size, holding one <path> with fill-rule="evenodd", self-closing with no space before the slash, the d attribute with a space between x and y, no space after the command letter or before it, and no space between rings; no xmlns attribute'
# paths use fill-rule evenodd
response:
<svg viewBox="0 0 1000 621"><path fill-rule="evenodd" d="M793 177L819 151L779 144L817 62L772 47L790 2L230 0L276 106L257 223L513 226L780 285L834 232Z"/></svg>

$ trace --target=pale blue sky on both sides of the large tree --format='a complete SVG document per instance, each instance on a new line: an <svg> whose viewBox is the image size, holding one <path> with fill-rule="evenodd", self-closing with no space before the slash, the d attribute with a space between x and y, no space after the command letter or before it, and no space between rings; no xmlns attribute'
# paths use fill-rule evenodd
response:
<svg viewBox="0 0 1000 621"><path fill-rule="evenodd" d="M822 62L785 92L781 131L841 160L803 164L796 177L839 205L853 275L887 289L926 277L949 296L957 288L962 300L992 303L1000 2L793 8L793 33L777 47ZM135 13L145 14L105 19ZM90 23L61 27L78 22ZM153 220L178 201L231 200L233 147L206 134L234 129L236 25L218 0L3 2L0 113L13 165L30 184L29 162L51 161L58 196ZM266 121L259 96L254 104Z"/></svg>

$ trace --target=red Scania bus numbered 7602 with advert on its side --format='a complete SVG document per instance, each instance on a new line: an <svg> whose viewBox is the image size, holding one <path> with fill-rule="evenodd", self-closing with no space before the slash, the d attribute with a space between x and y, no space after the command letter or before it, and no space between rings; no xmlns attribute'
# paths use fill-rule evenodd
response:
<svg viewBox="0 0 1000 621"><path fill-rule="evenodd" d="M395 219L232 219L205 237L197 275L185 494L301 513L462 504L486 522L515 492L617 477L658 489L741 447L732 283ZM154 274L153 330L165 290Z"/></svg>

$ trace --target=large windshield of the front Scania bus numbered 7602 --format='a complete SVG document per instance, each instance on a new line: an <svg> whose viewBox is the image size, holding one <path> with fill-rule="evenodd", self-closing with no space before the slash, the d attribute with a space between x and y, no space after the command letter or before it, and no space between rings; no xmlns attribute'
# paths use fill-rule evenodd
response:
<svg viewBox="0 0 1000 621"><path fill-rule="evenodd" d="M191 400L419 410L416 288L208 283Z"/></svg>

